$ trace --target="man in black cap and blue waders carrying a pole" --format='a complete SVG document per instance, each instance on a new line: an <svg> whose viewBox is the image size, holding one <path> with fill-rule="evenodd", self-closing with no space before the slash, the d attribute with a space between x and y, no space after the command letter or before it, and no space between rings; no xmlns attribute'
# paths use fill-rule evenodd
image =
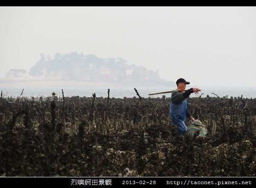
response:
<svg viewBox="0 0 256 188"><path fill-rule="evenodd" d="M191 121L195 121L193 116L190 115L187 110L187 101L186 98L189 97L191 93L198 93L201 91L198 88L190 88L185 92L179 90L185 90L186 84L190 84L190 82L186 81L183 78L179 78L176 81L177 90L172 92L172 98L170 103L170 116L172 124L177 126L177 132L179 136L183 136L184 133L187 132L187 127L185 125L186 117L191 119Z"/></svg>

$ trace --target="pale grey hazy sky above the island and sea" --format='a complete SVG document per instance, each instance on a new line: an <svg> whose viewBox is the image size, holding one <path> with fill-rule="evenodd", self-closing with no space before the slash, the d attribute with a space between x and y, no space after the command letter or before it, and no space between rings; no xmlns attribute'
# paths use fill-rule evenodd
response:
<svg viewBox="0 0 256 188"><path fill-rule="evenodd" d="M0 78L74 51L169 81L256 87L256 7L0 7Z"/></svg>

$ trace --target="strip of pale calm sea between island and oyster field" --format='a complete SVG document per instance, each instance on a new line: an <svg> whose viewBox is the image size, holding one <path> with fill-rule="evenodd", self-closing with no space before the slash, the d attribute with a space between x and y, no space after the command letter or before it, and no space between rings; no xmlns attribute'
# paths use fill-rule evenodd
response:
<svg viewBox="0 0 256 188"><path fill-rule="evenodd" d="M110 98L123 98L123 97L134 97L137 96L134 87L1 87L0 90L3 91L3 95L15 96L20 95L23 91L23 96L50 96L52 92L55 92L57 95L62 95L61 89L64 91L64 96L86 96L91 97L93 93L96 93L96 97L108 97L108 89L110 89ZM165 91L172 91L176 88L174 87L136 87L141 97L148 98L149 93L159 93ZM189 89L189 87L187 87ZM219 97L223 97L228 95L233 97L241 97L243 98L256 98L256 88L225 88L225 89L216 89L216 88L201 88L201 92L199 95L204 93L202 97L206 97L209 95L210 97L215 97L212 93L215 93ZM156 97L162 97L162 95L166 95L166 97L171 97L171 93L154 95ZM196 97L193 93L190 95L191 97Z"/></svg>

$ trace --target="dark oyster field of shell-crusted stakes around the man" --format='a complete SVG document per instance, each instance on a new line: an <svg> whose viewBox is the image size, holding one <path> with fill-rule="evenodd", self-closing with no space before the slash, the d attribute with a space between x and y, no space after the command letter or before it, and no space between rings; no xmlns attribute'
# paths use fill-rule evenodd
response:
<svg viewBox="0 0 256 188"><path fill-rule="evenodd" d="M1 97L0 176L256 176L256 99L188 98L205 137L177 136L170 101Z"/></svg>

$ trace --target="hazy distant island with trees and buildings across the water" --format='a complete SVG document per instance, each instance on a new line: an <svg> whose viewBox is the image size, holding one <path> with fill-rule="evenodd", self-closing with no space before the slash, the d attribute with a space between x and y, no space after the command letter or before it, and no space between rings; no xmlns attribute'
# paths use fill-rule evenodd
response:
<svg viewBox="0 0 256 188"><path fill-rule="evenodd" d="M172 81L160 78L159 71L127 64L122 58L99 58L71 52L56 53L52 59L40 54L41 59L27 72L10 69L4 80L8 81L79 81L113 84L157 84L175 86ZM3 82L3 81L1 81Z"/></svg>

